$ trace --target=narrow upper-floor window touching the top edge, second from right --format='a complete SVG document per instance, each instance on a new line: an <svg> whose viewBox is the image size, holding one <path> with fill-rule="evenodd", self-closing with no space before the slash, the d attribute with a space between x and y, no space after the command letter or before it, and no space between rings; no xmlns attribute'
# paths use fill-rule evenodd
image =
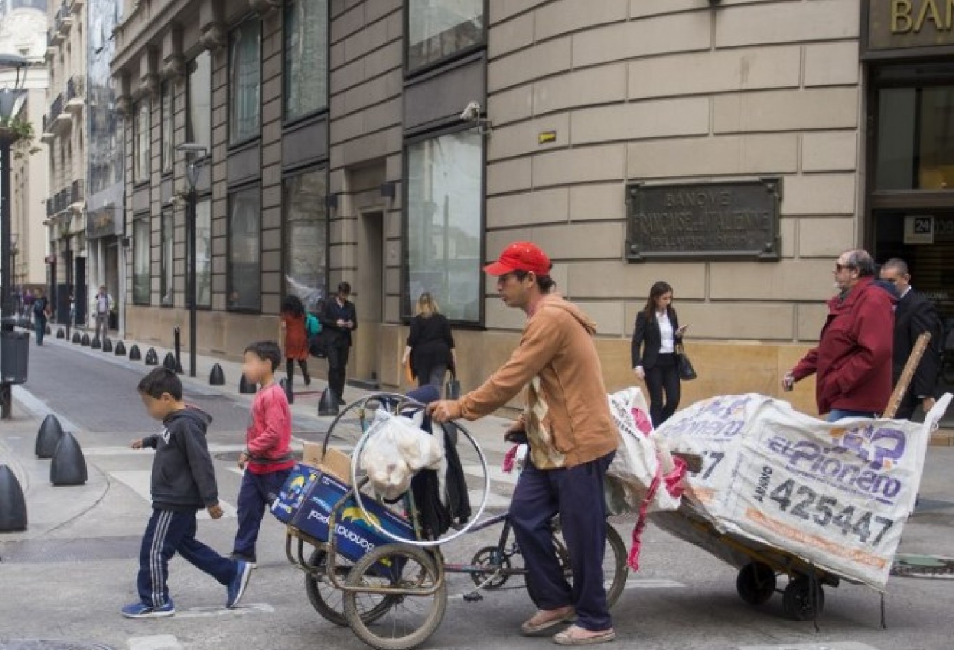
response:
<svg viewBox="0 0 954 650"><path fill-rule="evenodd" d="M285 8L284 79L286 119L327 108L327 0L292 0Z"/></svg>

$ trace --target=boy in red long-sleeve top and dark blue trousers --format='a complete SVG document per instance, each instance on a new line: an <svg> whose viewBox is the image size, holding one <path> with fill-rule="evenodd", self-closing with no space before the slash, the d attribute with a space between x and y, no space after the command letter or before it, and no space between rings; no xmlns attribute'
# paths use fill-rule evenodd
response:
<svg viewBox="0 0 954 650"><path fill-rule="evenodd" d="M275 381L281 350L273 341L259 341L245 348L242 372L246 381L260 384L252 402L252 417L245 433L245 451L239 456L241 479L238 499L239 531L232 558L255 566L255 542L261 518L295 466L292 456L292 417L288 397Z"/></svg>

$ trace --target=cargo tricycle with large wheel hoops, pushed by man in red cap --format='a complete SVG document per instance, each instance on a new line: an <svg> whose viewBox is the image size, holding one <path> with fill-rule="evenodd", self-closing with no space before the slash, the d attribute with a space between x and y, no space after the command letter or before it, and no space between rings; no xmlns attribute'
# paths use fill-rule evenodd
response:
<svg viewBox="0 0 954 650"><path fill-rule="evenodd" d="M317 538L289 526L285 554L306 574L308 598L325 620L350 626L359 639L374 648L404 649L423 643L441 624L446 611L447 573L469 576L473 588L463 595L467 601L481 599L481 590L505 588L511 578L525 576L526 570L517 565L519 548L511 538L507 515L481 521L490 489L487 459L467 428L460 424L456 424L462 435L460 441L467 441L483 470L483 498L466 525L451 529L441 538L425 538L411 491L390 505L369 493L358 459L373 434L368 429L373 414L382 408L407 415L425 405L398 394L364 397L336 417L325 435L324 446L341 445L352 453L350 486L337 502L329 504L327 530L338 531L339 522L346 518L363 518L363 523L374 528L386 542L360 558L349 559L342 553L339 535ZM357 442L353 442L356 438ZM384 528L373 512L382 507L404 518L412 535L403 538ZM381 514L380 510L377 512ZM442 544L494 525L502 525L496 545L480 549L467 564L445 562ZM569 554L558 525L553 526L553 541L557 558L569 578ZM609 522L604 572L612 605L623 591L628 568L626 545Z"/></svg>

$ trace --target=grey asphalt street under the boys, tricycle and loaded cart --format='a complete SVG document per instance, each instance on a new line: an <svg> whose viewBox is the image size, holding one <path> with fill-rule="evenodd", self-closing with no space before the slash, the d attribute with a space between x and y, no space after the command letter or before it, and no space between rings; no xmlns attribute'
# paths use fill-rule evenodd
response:
<svg viewBox="0 0 954 650"><path fill-rule="evenodd" d="M160 355L161 358L161 355ZM304 575L284 555L284 529L266 518L259 538L259 568L242 606L222 608L224 589L181 559L171 564L176 616L126 620L119 608L135 599L138 543L149 517L150 452L127 448L133 437L155 431L142 411L135 384L146 368L69 344L31 348L30 383L19 391L13 422L0 424L0 462L14 467L25 485L31 524L25 533L0 534L0 648L107 647L363 648L350 630L322 620L304 590ZM218 487L233 505L240 475L234 457L248 416L247 396L188 383L187 395L215 417L209 442ZM90 478L81 487L53 488L49 461L32 457L38 416L47 411L73 425ZM298 439L317 439L328 419L296 412ZM490 463L499 449L489 444ZM466 460L467 462L467 460ZM954 448L928 451L922 497L929 507L909 521L902 551L954 556ZM494 473L498 496L512 477ZM506 499L494 500L499 511ZM227 512L229 508L226 508ZM613 524L629 543L633 521ZM227 553L235 518L202 519L199 538ZM446 544L447 561L466 562L491 544L499 529ZM614 647L745 650L941 650L954 647L949 616L954 581L892 579L885 599L887 629L880 626L880 598L844 584L827 589L816 631L812 622L787 620L781 598L751 607L736 594L736 570L695 546L650 525L642 568L631 575L614 611ZM784 580L782 579L782 584ZM470 602L466 576L448 578L450 599L428 648L544 648L548 637L518 636L533 607L519 580ZM73 645L36 644L72 641ZM28 643L32 643L29 644ZM78 645L83 641L87 644Z"/></svg>

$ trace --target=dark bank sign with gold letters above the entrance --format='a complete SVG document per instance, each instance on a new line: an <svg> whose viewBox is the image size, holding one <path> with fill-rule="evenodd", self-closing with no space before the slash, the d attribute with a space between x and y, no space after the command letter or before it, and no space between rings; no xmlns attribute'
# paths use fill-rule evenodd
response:
<svg viewBox="0 0 954 650"><path fill-rule="evenodd" d="M867 50L954 45L954 0L871 0Z"/></svg>

